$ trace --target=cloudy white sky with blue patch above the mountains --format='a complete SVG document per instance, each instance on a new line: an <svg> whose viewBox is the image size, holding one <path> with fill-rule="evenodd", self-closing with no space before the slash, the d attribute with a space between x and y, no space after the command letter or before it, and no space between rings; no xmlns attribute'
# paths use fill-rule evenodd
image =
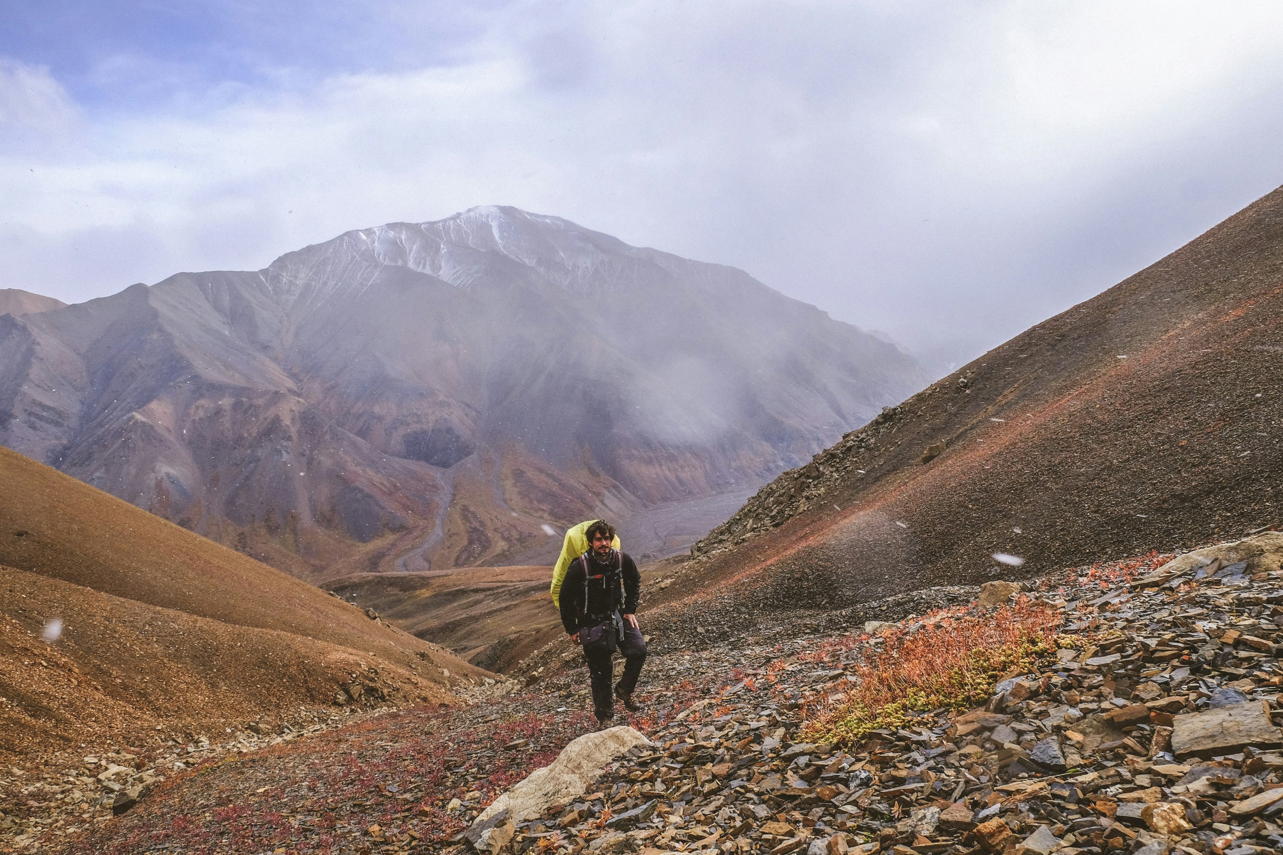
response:
<svg viewBox="0 0 1283 855"><path fill-rule="evenodd" d="M0 287L516 205L943 374L1283 183L1280 96L1278 3L0 0Z"/></svg>

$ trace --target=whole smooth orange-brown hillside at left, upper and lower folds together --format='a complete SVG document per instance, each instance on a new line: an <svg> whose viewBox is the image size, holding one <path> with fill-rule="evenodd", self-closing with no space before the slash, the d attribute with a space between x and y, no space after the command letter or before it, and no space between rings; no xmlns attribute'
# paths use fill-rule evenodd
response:
<svg viewBox="0 0 1283 855"><path fill-rule="evenodd" d="M8 449L0 483L0 754L332 708L354 681L393 701L449 701L450 686L484 677ZM54 618L63 633L46 643Z"/></svg>

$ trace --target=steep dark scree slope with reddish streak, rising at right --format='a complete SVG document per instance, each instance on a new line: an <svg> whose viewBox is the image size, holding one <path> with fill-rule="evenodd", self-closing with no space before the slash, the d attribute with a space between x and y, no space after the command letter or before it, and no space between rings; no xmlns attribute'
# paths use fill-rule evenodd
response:
<svg viewBox="0 0 1283 855"><path fill-rule="evenodd" d="M665 596L837 608L1283 523L1280 283L1277 190L780 476Z"/></svg>

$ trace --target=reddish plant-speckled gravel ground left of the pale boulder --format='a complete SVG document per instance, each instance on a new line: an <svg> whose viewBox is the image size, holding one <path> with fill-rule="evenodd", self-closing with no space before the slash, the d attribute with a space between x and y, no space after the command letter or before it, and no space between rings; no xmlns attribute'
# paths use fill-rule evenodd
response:
<svg viewBox="0 0 1283 855"><path fill-rule="evenodd" d="M620 720L654 729L733 677L692 659L656 658L648 679L666 691ZM432 851L597 728L585 687L579 669L527 691L480 686L464 708L32 760L0 790L0 852Z"/></svg>

